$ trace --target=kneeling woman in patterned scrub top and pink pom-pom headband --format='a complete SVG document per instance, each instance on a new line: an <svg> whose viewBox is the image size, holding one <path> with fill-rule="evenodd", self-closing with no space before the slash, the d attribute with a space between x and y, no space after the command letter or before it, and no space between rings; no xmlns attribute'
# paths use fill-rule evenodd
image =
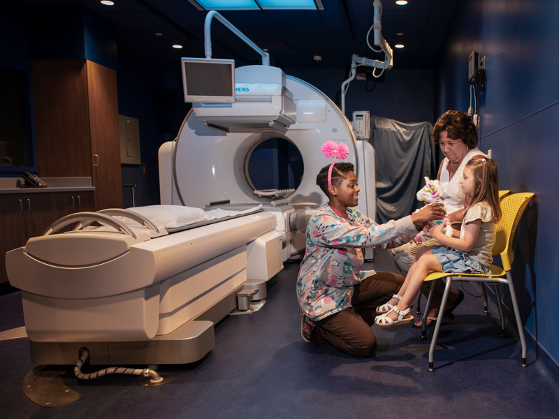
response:
<svg viewBox="0 0 559 419"><path fill-rule="evenodd" d="M443 210L430 205L378 225L353 208L359 188L351 163L322 168L317 184L329 202L307 226L307 249L297 280L301 337L368 357L377 348L371 330L376 309L398 293L405 278L391 272L362 272L365 248L406 242L417 233L414 224L423 227L431 219L440 219Z"/></svg>

